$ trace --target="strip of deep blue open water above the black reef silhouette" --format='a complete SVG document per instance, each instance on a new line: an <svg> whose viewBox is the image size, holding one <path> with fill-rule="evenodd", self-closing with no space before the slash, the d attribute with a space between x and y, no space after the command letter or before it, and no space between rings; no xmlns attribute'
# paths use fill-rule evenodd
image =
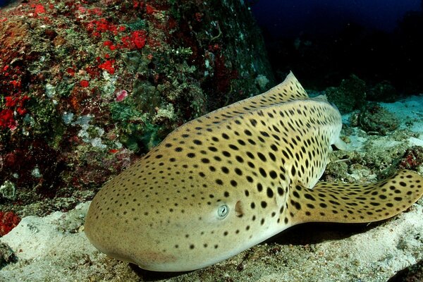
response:
<svg viewBox="0 0 423 282"><path fill-rule="evenodd" d="M421 0L258 0L252 12L260 26L278 37L327 34L348 23L391 32L405 13L421 8Z"/></svg>

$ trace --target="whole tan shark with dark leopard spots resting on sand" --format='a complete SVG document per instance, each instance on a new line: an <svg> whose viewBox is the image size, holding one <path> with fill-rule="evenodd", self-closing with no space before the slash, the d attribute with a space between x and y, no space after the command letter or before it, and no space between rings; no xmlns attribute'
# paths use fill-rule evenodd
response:
<svg viewBox="0 0 423 282"><path fill-rule="evenodd" d="M298 223L387 219L422 196L400 171L370 185L317 183L341 115L290 73L257 97L190 121L94 197L85 233L100 251L143 269L188 271Z"/></svg>

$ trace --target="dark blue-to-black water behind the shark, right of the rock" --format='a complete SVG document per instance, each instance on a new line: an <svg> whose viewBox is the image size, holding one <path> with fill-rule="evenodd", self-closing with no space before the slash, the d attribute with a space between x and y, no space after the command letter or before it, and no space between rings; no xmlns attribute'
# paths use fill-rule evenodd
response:
<svg viewBox="0 0 423 282"><path fill-rule="evenodd" d="M277 80L306 87L357 75L423 92L423 0L252 0Z"/></svg>

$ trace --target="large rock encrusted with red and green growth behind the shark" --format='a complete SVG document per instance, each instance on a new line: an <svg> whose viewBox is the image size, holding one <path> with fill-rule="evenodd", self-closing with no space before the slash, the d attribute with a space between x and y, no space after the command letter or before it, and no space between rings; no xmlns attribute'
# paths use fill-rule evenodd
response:
<svg viewBox="0 0 423 282"><path fill-rule="evenodd" d="M0 184L15 195L0 210L84 200L174 128L273 84L244 1L1 8Z"/></svg>

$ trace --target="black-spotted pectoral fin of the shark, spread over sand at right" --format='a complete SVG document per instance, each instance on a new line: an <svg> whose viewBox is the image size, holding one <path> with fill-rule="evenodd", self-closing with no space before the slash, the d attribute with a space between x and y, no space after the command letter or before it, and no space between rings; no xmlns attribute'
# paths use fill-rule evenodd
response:
<svg viewBox="0 0 423 282"><path fill-rule="evenodd" d="M423 195L423 177L398 171L373 184L317 183L312 189L290 188L288 216L291 223L364 223L388 219L417 202Z"/></svg>

